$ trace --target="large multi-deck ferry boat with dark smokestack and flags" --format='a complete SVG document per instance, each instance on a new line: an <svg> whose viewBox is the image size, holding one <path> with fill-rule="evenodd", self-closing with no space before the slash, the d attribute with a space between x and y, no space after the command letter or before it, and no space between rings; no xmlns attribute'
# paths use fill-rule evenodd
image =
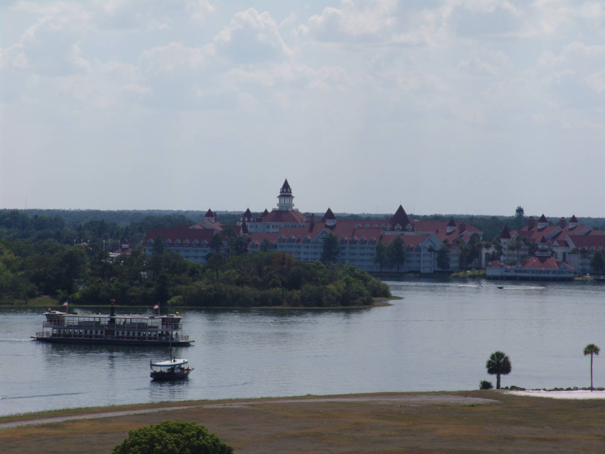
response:
<svg viewBox="0 0 605 454"><path fill-rule="evenodd" d="M193 340L183 335L183 317L116 315L116 303L111 300L110 315L67 314L44 312L42 331L31 336L41 342L114 345L189 346Z"/></svg>

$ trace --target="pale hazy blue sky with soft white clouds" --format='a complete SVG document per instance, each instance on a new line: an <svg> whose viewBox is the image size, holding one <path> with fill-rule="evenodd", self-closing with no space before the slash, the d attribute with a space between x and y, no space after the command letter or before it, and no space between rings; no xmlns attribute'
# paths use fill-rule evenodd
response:
<svg viewBox="0 0 605 454"><path fill-rule="evenodd" d="M605 216L605 2L7 1L0 208Z"/></svg>

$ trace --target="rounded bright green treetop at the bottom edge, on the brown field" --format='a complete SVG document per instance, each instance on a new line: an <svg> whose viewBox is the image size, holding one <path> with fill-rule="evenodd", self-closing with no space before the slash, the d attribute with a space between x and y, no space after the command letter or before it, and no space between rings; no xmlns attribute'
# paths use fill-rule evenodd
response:
<svg viewBox="0 0 605 454"><path fill-rule="evenodd" d="M181 419L129 430L111 454L231 454L233 448L206 427Z"/></svg>

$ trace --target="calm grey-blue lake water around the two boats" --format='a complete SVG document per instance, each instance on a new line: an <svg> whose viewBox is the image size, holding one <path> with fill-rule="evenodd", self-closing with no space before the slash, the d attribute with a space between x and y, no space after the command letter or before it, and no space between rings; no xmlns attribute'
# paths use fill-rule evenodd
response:
<svg viewBox="0 0 605 454"><path fill-rule="evenodd" d="M42 309L0 309L0 415L165 400L476 389L483 379L495 384L485 361L496 349L512 361L503 386L589 386L582 349L605 348L603 285L389 284L405 299L385 308L182 311L196 342L175 349L195 367L180 383L149 379L149 360L167 356L166 349L37 343L29 336L42 326ZM605 385L605 357L595 357L594 374L595 386Z"/></svg>

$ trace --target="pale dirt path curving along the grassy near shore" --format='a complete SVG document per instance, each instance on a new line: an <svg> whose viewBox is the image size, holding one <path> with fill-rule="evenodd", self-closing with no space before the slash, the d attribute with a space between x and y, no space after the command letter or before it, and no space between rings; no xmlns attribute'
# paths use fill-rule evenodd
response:
<svg viewBox="0 0 605 454"><path fill-rule="evenodd" d="M50 418L34 418L22 419L20 421L12 421L8 423L0 423L0 429L13 429L21 426L33 426L37 424L53 424L63 423L64 421L73 421L75 419L96 419L96 418L114 418L116 416L142 415L145 413L169 412L171 410L185 410L192 408L220 408L220 407L244 407L253 406L254 404L292 404L292 403L376 403L376 404L391 404L405 406L422 406L422 405L480 405L494 404L498 401L493 399L485 399L480 397L468 396L453 396L447 394L411 394L411 395L385 395L385 396L342 396L342 397L320 397L320 398L292 398L292 399L263 399L263 400L246 400L235 401L232 403L216 403L216 404L201 404L188 406L174 407L152 407L139 410L121 410L117 412L97 412L97 413L82 413L80 415L65 415L52 416Z"/></svg>

